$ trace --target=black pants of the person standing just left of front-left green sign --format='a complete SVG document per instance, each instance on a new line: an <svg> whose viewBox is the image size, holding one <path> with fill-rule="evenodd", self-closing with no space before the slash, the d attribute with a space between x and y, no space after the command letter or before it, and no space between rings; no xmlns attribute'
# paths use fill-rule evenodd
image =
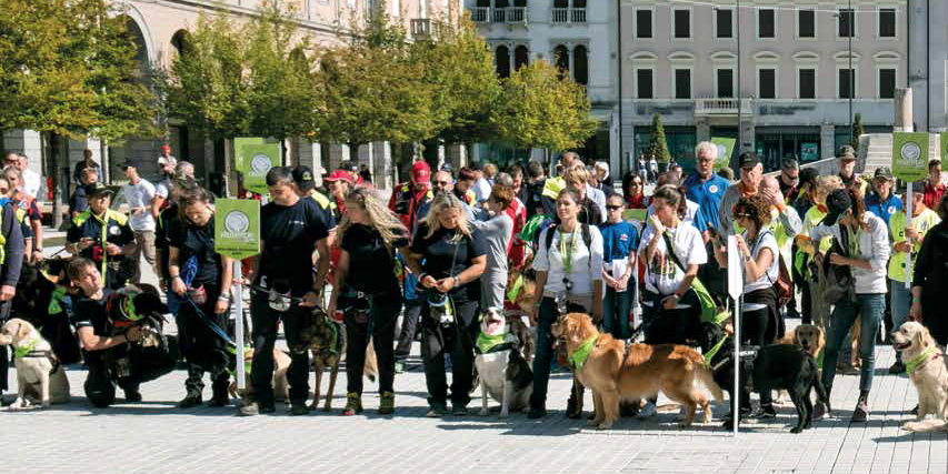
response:
<svg viewBox="0 0 948 474"><path fill-rule="evenodd" d="M198 305L188 301L181 303L178 310L178 339L181 352L188 363L188 379L184 380L184 390L188 396L201 396L204 390L204 372L210 374L216 396L227 396L227 387L230 374L227 369L234 363L234 356L227 350L227 343L214 334L213 331L198 316L200 310L207 317L213 321L222 330L228 330L227 313L214 314L214 305L220 291L217 288L204 285L207 301Z"/></svg>

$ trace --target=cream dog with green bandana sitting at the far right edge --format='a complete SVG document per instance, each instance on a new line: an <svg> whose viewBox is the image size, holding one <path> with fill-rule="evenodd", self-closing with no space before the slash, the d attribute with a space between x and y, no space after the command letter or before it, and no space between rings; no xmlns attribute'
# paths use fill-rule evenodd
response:
<svg viewBox="0 0 948 474"><path fill-rule="evenodd" d="M906 422L908 431L948 431L948 369L945 354L928 333L928 327L909 321L892 333L892 347L901 351L909 379L918 391L918 415ZM925 422L926 415L935 420ZM935 424L932 424L935 423Z"/></svg>

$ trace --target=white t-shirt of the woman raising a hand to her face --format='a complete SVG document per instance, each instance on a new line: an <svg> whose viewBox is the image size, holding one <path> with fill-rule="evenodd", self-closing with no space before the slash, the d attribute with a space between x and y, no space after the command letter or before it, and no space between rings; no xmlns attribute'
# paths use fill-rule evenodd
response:
<svg viewBox="0 0 948 474"><path fill-rule="evenodd" d="M686 268L690 265L703 265L708 263L708 251L705 250L705 241L701 239L701 232L698 232L693 225L687 222L679 222L678 229L668 229L671 244L675 245L675 254ZM655 258L651 263L646 262L645 282L646 289L652 293L661 295L670 295L678 291L681 281L685 280L685 272L679 268L675 260L668 254L668 248L665 245L665 239L661 235L656 235L655 228L649 224L642 232L642 240L639 243L639 256L645 259L646 249L652 239L658 239L655 248ZM678 307L686 307L680 305Z"/></svg>

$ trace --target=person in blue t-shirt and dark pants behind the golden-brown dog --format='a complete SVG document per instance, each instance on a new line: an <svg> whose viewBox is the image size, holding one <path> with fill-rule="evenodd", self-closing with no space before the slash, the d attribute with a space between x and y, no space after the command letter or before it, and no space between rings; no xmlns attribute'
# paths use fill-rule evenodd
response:
<svg viewBox="0 0 948 474"><path fill-rule="evenodd" d="M606 199L606 222L599 225L602 234L602 281L606 297L602 301L602 329L616 339L631 335L629 313L636 296L635 284L629 284L636 262L638 231L622 220L625 202L621 195Z"/></svg>

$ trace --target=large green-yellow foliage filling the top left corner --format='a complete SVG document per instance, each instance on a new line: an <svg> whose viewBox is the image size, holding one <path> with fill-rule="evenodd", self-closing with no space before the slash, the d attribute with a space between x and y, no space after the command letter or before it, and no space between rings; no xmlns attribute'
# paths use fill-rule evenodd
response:
<svg viewBox="0 0 948 474"><path fill-rule="evenodd" d="M112 142L159 133L148 70L128 17L104 0L6 0L0 16L0 130Z"/></svg>

